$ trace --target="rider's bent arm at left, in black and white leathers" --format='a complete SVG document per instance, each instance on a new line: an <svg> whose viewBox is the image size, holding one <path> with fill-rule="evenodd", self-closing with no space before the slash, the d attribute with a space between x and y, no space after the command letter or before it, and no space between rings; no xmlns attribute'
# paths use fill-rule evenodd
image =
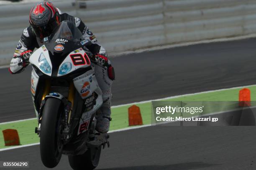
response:
<svg viewBox="0 0 256 170"><path fill-rule="evenodd" d="M13 59L10 62L9 72L11 74L17 74L25 70L26 66L29 64L29 55L31 55L31 51L34 50L35 44L37 44L36 37L31 28L25 28L14 51Z"/></svg>

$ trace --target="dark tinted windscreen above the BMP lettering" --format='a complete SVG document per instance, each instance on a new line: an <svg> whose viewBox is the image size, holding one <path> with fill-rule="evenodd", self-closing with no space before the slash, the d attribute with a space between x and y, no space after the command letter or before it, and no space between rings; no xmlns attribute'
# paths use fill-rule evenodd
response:
<svg viewBox="0 0 256 170"><path fill-rule="evenodd" d="M64 38L70 41L79 41L81 37L81 31L73 23L63 21L60 23L59 28L56 29L56 32L50 36L50 39Z"/></svg>

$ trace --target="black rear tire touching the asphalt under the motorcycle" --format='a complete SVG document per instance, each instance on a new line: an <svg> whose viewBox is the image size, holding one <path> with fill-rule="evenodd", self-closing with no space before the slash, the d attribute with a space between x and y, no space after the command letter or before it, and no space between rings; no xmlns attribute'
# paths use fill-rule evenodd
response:
<svg viewBox="0 0 256 170"><path fill-rule="evenodd" d="M82 155L69 155L69 165L73 170L93 170L100 162L101 146L89 149Z"/></svg>

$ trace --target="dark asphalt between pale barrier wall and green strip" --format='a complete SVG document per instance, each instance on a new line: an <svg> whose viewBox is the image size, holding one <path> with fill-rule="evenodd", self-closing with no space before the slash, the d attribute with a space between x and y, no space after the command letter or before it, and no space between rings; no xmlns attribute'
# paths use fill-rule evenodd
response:
<svg viewBox="0 0 256 170"><path fill-rule="evenodd" d="M177 47L111 58L113 105L256 84L256 39ZM0 122L35 117L31 67L0 69Z"/></svg>

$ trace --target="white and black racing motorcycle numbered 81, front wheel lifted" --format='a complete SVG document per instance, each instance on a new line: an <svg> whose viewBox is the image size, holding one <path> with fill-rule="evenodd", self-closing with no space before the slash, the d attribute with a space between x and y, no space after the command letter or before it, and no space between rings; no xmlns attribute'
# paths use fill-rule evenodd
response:
<svg viewBox="0 0 256 170"><path fill-rule="evenodd" d="M55 30L29 58L41 160L54 168L65 154L74 170L92 170L102 146L109 147L108 134L95 130L102 91L91 65L93 53L87 48L92 43L82 40L82 33L68 21Z"/></svg>

